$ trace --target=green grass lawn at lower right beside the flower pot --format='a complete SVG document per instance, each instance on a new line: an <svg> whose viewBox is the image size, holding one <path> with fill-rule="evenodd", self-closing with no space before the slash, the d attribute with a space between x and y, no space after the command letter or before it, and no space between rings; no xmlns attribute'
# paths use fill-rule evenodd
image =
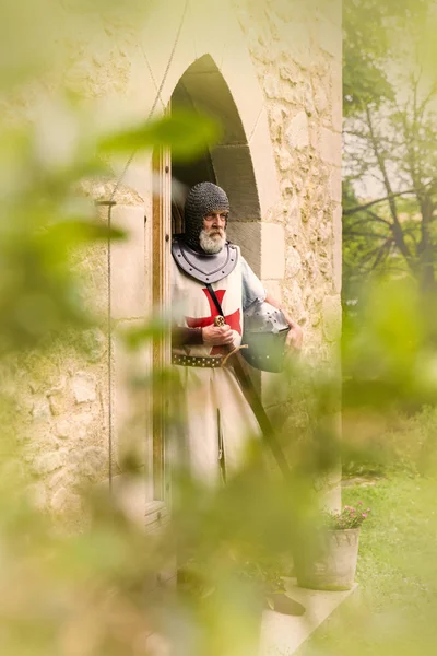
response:
<svg viewBox="0 0 437 656"><path fill-rule="evenodd" d="M437 482L398 475L345 488L370 507L361 534L359 597L321 626L302 654L437 654Z"/></svg>

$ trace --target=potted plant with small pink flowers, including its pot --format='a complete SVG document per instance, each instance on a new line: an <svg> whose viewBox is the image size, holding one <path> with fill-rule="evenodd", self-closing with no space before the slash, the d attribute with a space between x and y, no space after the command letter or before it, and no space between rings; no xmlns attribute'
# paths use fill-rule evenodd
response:
<svg viewBox="0 0 437 656"><path fill-rule="evenodd" d="M296 561L297 583L316 590L349 590L355 579L359 529L370 508L344 506L340 513L324 511L311 550Z"/></svg>

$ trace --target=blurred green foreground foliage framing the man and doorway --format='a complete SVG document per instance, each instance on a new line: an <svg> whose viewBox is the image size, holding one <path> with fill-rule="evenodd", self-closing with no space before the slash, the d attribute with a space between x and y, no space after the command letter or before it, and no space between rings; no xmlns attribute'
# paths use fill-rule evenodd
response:
<svg viewBox="0 0 437 656"><path fill-rule="evenodd" d="M132 3L132 24L152 5ZM129 9L123 3L128 21ZM359 65L356 70L371 73L367 82L358 75L354 103L358 95L367 102L375 80L381 86L387 82L371 63L387 43L374 34L378 7L364 9L359 3L346 8L346 26L359 27L354 28L357 46L346 44L346 57L352 68ZM173 145L184 159L218 133L206 118L179 115L103 136L97 109L88 115L71 90L52 91L50 75L57 80L63 70L63 47L72 42L74 49L76 33L92 35L93 20L102 13L118 26L119 11L119 3L107 0L7 1L0 10L1 124L7 127L0 139L0 651L8 656L140 656L153 653L149 636L154 634L152 640L168 640L178 656L253 656L265 587L280 585L293 566L292 554L310 542L316 483L338 459L335 370L303 361L280 383L294 390L308 420L297 421L297 403L286 408L296 414L292 423L276 420L293 466L291 480L279 477L258 442L226 488L200 485L180 468L172 520L158 532L145 532L126 503L125 492L128 496L144 483L134 457L113 496L84 487L79 507L71 508L80 516L79 530L37 509L36 481L25 458L19 419L26 410L15 398L17 372L32 366L44 377L46 362L59 364L72 335L78 349L86 350L90 328L102 328L102 317L90 312L75 265L82 249L125 237L117 226L108 233L93 202L78 194L84 178L114 177L110 157L96 152L127 156L137 148ZM357 54L359 61L352 57ZM381 98L386 89L378 91ZM31 120L28 105L43 92L48 103L39 119ZM433 312L424 312L417 286L404 280L398 286L377 285L363 298L350 317L343 349L351 382L344 395L345 445L355 445L368 424L374 438L382 415L430 402L436 390ZM126 335L126 343L137 354L161 331L153 320ZM167 371L145 372L134 384L162 390L174 380ZM170 410L166 419L182 441L176 405ZM422 423L421 430L433 444L432 411L426 422L429 430ZM414 433L414 426L410 430ZM362 453L371 449L364 435ZM395 519L392 511L391 526ZM156 573L175 567L176 551L199 582L194 590L156 586ZM392 554L383 551L381 558L390 561ZM377 648L383 653L383 644Z"/></svg>

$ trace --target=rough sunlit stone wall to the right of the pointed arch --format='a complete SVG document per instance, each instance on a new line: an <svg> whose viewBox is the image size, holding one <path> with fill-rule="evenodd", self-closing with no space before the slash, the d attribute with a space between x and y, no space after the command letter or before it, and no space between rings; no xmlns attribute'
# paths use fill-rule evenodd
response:
<svg viewBox="0 0 437 656"><path fill-rule="evenodd" d="M263 221L273 295L332 358L341 324L341 2L235 0L265 95L281 202ZM324 13L322 11L324 10Z"/></svg>

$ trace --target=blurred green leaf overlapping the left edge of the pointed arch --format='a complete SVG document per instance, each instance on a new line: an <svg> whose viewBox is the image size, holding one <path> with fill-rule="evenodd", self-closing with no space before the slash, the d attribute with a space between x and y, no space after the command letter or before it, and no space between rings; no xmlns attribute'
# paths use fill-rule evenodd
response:
<svg viewBox="0 0 437 656"><path fill-rule="evenodd" d="M135 128L109 134L102 139L104 153L130 153L155 147L172 149L175 160L190 160L216 143L221 134L218 124L203 114L177 110L158 120L146 121Z"/></svg>

